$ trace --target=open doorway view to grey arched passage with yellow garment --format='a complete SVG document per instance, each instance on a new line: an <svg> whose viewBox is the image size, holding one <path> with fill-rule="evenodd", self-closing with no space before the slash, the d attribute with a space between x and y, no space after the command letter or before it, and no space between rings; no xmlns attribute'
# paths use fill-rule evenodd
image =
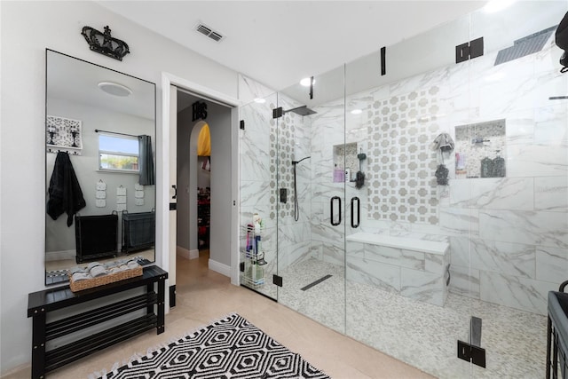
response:
<svg viewBox="0 0 568 379"><path fill-rule="evenodd" d="M231 107L179 87L176 102L177 255L209 255L209 268L230 276ZM201 133L209 134L209 148L200 148Z"/></svg>

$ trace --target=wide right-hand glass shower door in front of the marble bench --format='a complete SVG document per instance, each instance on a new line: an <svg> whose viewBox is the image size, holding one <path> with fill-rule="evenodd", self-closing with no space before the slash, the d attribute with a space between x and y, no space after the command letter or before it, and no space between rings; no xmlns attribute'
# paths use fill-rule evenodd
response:
<svg viewBox="0 0 568 379"><path fill-rule="evenodd" d="M346 335L439 377L471 370L456 358L457 340L469 341L469 296L455 301L448 285L461 280L449 273L450 239L469 241L471 215L449 209L454 154L432 149L469 116L469 62L455 63L469 39L467 16L387 46L386 75L380 51L345 68L346 146L356 146L346 160L365 175L346 188ZM440 164L449 188L438 186Z"/></svg>

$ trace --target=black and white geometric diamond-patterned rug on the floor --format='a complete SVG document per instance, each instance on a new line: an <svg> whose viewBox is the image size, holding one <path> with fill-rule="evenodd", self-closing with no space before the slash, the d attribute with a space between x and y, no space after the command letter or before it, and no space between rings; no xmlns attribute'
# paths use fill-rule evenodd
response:
<svg viewBox="0 0 568 379"><path fill-rule="evenodd" d="M235 313L100 377L268 379L329 376Z"/></svg>

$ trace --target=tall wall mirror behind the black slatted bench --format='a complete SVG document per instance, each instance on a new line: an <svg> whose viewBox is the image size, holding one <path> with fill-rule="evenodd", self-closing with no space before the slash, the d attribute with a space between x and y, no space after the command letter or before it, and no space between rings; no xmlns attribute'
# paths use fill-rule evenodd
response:
<svg viewBox="0 0 568 379"><path fill-rule="evenodd" d="M154 262L155 84L46 50L45 283Z"/></svg>

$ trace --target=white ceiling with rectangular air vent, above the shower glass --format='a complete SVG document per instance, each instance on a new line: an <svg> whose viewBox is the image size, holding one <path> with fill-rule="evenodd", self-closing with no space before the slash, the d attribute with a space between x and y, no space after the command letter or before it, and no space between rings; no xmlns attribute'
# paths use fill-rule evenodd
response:
<svg viewBox="0 0 568 379"><path fill-rule="evenodd" d="M477 10L486 1L99 1L272 90ZM158 16L159 15L159 16ZM204 24L225 36L194 31Z"/></svg>

